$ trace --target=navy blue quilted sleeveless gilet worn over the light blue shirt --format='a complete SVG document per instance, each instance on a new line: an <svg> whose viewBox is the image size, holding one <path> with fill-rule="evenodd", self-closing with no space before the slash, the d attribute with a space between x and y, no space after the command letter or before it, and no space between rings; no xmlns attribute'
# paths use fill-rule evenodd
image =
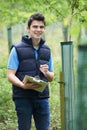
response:
<svg viewBox="0 0 87 130"><path fill-rule="evenodd" d="M35 58L35 51L32 45L32 39L28 36L22 37L22 42L14 45L18 54L19 67L16 76L22 81L25 75L37 76L40 79L48 82L47 78L40 72L39 67L42 64L49 64L50 49L44 44L41 39L38 49L38 60ZM15 60L15 59L14 59ZM45 90L37 92L35 90L25 90L15 85L13 86L13 99L15 98L30 98L30 99L43 99L49 98L49 87L46 86Z"/></svg>

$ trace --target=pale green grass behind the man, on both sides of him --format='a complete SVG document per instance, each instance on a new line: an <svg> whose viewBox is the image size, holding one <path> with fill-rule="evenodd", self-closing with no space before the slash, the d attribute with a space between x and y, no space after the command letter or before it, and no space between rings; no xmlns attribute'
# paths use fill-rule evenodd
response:
<svg viewBox="0 0 87 130"><path fill-rule="evenodd" d="M56 29L56 28L55 28ZM14 104L12 102L11 84L7 81L7 62L8 62L8 40L6 30L1 35L0 41L0 129L1 130L15 130L17 128L17 118ZM17 30L16 30L17 31ZM46 39L51 47L54 63L55 77L50 84L50 108L51 108L51 129L60 130L60 87L57 83L59 80L59 72L61 70L61 55L60 55L60 41L58 41L58 33L53 36L56 30L47 28ZM17 36L18 37L18 36ZM61 37L59 37L61 39ZM35 130L34 123L32 123L32 130Z"/></svg>

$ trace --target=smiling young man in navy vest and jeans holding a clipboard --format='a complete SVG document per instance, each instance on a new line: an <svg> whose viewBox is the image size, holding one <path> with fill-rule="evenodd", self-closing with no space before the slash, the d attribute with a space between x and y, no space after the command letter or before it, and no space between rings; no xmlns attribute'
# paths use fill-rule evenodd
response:
<svg viewBox="0 0 87 130"><path fill-rule="evenodd" d="M41 85L23 82L25 75L38 76L46 82L53 80L51 51L42 39L45 24L42 14L31 15L27 27L29 36L23 36L21 42L14 45L9 56L8 80L12 83L18 130L30 130L32 116L36 130L49 130L48 85L43 92L38 92L34 89Z"/></svg>

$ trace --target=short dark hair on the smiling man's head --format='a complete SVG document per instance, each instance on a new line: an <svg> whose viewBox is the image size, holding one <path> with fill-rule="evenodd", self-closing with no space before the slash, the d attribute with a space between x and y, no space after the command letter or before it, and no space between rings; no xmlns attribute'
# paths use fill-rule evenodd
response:
<svg viewBox="0 0 87 130"><path fill-rule="evenodd" d="M35 13L35 14L31 15L30 18L29 18L29 20L28 20L28 27L30 27L31 23L34 20L42 21L44 23L44 25L46 24L45 17L42 14L40 14L40 13Z"/></svg>

